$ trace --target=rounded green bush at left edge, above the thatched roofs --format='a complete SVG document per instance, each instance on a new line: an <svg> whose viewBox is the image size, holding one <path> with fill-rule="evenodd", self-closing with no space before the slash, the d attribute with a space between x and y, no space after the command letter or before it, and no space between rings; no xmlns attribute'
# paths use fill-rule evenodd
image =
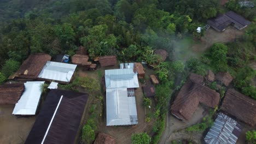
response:
<svg viewBox="0 0 256 144"><path fill-rule="evenodd" d="M19 62L14 61L13 59L9 59L4 63L2 67L2 73L5 77L9 77L13 73L15 73L15 71L17 71L19 67L20 67Z"/></svg>

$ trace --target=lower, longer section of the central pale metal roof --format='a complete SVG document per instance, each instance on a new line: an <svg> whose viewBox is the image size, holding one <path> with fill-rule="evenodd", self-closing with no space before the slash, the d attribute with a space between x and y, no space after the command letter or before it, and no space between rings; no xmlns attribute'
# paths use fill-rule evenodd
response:
<svg viewBox="0 0 256 144"><path fill-rule="evenodd" d="M106 89L107 126L137 124L135 97L127 96L127 88Z"/></svg>

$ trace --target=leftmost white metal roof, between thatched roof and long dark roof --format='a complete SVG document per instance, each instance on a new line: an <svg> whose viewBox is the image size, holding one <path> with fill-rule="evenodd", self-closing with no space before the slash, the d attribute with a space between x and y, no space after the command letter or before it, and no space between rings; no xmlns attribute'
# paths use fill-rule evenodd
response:
<svg viewBox="0 0 256 144"><path fill-rule="evenodd" d="M36 115L37 106L42 94L41 86L44 81L31 81L24 83L25 91L18 103L15 104L14 115Z"/></svg>

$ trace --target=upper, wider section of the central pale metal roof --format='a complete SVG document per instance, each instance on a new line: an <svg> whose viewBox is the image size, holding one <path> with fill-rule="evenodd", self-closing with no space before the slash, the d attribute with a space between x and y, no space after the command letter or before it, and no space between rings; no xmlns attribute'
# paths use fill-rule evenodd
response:
<svg viewBox="0 0 256 144"><path fill-rule="evenodd" d="M139 87L137 74L133 69L105 70L106 88L137 88Z"/></svg>

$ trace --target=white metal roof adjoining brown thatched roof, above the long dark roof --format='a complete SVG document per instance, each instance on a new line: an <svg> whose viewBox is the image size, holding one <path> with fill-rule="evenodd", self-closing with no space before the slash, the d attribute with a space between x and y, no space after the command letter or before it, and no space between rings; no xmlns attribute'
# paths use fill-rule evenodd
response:
<svg viewBox="0 0 256 144"><path fill-rule="evenodd" d="M74 74L76 64L48 61L38 77L49 80L69 82Z"/></svg>

